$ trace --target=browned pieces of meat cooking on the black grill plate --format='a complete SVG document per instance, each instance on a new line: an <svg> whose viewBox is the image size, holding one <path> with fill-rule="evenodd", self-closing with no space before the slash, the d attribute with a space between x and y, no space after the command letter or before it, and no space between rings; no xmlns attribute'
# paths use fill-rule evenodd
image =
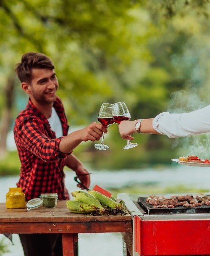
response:
<svg viewBox="0 0 210 256"><path fill-rule="evenodd" d="M170 198L150 195L146 202L152 204L153 208L197 207L210 205L210 195L172 195Z"/></svg>

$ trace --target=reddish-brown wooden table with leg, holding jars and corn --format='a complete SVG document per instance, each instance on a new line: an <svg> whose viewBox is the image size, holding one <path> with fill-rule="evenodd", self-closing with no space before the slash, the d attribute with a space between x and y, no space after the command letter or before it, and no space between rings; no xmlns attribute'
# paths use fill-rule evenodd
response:
<svg viewBox="0 0 210 256"><path fill-rule="evenodd" d="M61 233L63 256L76 256L78 233L131 232L131 216L85 216L74 214L66 201L58 201L56 208L7 209L0 203L0 234Z"/></svg>

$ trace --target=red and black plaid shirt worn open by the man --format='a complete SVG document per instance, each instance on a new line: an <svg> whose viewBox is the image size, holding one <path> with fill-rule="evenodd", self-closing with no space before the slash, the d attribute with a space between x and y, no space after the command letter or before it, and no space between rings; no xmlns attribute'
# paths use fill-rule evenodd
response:
<svg viewBox="0 0 210 256"><path fill-rule="evenodd" d="M57 98L53 107L60 118L63 136L66 136L69 127L60 98ZM26 201L39 198L41 193L58 193L59 200L69 200L63 172L69 154L59 151L63 137L56 138L47 118L30 99L16 118L13 132L21 161L17 186L22 187Z"/></svg>

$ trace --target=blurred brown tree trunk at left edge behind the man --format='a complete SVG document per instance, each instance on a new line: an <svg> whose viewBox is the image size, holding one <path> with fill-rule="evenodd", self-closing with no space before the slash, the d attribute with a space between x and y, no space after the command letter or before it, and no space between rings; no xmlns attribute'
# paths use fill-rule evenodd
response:
<svg viewBox="0 0 210 256"><path fill-rule="evenodd" d="M5 109L2 113L1 119L1 129L0 129L0 159L3 159L6 156L7 148L6 141L7 135L10 131L11 119L12 119L12 107L14 99L14 84L15 77L9 76L7 84L5 86Z"/></svg>

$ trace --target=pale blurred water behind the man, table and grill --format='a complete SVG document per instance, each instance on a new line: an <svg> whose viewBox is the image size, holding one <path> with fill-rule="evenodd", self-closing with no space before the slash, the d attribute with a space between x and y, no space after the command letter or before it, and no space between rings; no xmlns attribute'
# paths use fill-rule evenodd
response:
<svg viewBox="0 0 210 256"><path fill-rule="evenodd" d="M91 174L92 189L96 184L110 190L135 185L154 184L155 187L184 185L197 189L210 190L210 167L184 166L174 163L165 169L94 171ZM66 172L68 191L78 190L74 181L74 172ZM16 187L18 176L0 178L0 202L5 202L9 187ZM0 234L0 239L4 236ZM13 235L13 242L5 238L10 253L3 256L24 256L18 235ZM105 248L105 249L102 249ZM100 253L99 253L100 252ZM79 234L79 256L123 256L123 241L120 233Z"/></svg>

